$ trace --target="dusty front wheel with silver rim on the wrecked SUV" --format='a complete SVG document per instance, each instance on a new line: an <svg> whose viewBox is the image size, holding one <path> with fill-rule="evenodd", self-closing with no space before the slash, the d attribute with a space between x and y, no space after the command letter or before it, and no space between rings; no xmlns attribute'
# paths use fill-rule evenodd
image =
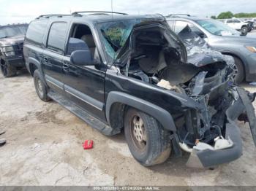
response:
<svg viewBox="0 0 256 191"><path fill-rule="evenodd" d="M128 109L124 117L124 134L132 156L142 165L164 163L170 156L170 133L148 114Z"/></svg>

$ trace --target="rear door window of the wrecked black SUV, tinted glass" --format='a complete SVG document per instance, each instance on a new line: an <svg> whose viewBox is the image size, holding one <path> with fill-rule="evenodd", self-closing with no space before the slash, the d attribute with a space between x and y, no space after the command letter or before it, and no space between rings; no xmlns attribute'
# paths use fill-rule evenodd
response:
<svg viewBox="0 0 256 191"><path fill-rule="evenodd" d="M47 47L51 50L63 52L67 36L67 23L53 23L48 35Z"/></svg>

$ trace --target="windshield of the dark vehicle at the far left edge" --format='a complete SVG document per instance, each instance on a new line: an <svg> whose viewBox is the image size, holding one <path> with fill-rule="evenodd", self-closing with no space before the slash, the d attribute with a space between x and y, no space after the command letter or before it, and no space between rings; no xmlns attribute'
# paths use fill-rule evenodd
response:
<svg viewBox="0 0 256 191"><path fill-rule="evenodd" d="M26 34L27 26L7 26L0 28L0 39Z"/></svg>

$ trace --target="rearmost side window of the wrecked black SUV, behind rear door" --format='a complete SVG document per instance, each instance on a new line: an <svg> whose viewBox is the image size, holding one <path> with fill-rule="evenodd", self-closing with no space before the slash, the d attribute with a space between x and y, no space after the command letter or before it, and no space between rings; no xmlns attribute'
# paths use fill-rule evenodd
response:
<svg viewBox="0 0 256 191"><path fill-rule="evenodd" d="M47 26L47 20L34 21L30 23L28 31L26 32L26 39L30 42L42 44L42 38Z"/></svg>

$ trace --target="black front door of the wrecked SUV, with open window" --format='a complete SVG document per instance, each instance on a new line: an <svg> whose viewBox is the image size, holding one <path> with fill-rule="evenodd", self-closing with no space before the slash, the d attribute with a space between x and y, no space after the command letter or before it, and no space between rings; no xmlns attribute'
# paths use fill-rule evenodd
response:
<svg viewBox="0 0 256 191"><path fill-rule="evenodd" d="M91 51L92 58L98 63L97 66L75 66L70 62L72 52L84 50L85 47ZM102 121L106 121L105 71L106 67L101 63L90 28L82 24L74 24L63 60L64 89L72 101Z"/></svg>

